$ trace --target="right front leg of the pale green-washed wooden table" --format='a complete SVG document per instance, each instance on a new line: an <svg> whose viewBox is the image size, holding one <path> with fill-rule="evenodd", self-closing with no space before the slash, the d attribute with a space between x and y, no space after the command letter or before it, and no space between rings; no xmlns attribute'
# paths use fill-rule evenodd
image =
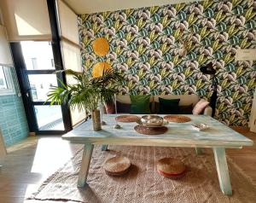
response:
<svg viewBox="0 0 256 203"><path fill-rule="evenodd" d="M224 148L213 148L215 164L218 172L219 187L226 195L232 195L230 174Z"/></svg>

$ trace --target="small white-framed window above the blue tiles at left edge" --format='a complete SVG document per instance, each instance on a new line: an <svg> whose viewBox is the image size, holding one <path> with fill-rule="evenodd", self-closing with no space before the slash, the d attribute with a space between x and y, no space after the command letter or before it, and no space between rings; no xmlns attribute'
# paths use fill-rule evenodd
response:
<svg viewBox="0 0 256 203"><path fill-rule="evenodd" d="M15 94L10 68L0 66L0 96Z"/></svg>

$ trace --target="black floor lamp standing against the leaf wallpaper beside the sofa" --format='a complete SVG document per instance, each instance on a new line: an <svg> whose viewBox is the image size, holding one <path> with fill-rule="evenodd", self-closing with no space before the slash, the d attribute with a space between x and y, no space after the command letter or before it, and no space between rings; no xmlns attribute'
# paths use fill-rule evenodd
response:
<svg viewBox="0 0 256 203"><path fill-rule="evenodd" d="M212 75L212 96L210 101L210 106L212 107L212 117L215 115L215 108L217 102L217 78L216 70L213 68L212 62L208 63L206 66L200 68L201 73Z"/></svg>

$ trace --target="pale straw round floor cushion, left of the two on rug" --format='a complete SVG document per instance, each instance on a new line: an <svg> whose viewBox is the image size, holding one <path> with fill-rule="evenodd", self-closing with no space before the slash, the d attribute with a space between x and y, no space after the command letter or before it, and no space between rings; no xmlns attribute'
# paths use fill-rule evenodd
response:
<svg viewBox="0 0 256 203"><path fill-rule="evenodd" d="M104 170L110 176L124 175L131 166L131 161L124 156L115 156L109 158L104 163Z"/></svg>

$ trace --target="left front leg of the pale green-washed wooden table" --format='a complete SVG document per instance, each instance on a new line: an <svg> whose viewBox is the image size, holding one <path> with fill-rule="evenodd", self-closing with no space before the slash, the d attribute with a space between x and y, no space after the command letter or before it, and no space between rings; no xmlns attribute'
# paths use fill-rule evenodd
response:
<svg viewBox="0 0 256 203"><path fill-rule="evenodd" d="M86 183L93 147L94 146L92 144L84 144L84 152L83 152L82 162L81 162L80 171L79 171L78 187L84 187Z"/></svg>

